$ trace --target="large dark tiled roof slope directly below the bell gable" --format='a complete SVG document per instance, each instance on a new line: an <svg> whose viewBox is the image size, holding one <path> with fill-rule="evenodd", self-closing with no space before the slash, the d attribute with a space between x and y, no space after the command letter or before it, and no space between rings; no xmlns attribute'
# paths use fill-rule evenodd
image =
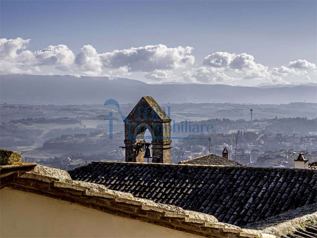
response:
<svg viewBox="0 0 317 238"><path fill-rule="evenodd" d="M316 202L311 169L93 162L69 174L237 226Z"/></svg>

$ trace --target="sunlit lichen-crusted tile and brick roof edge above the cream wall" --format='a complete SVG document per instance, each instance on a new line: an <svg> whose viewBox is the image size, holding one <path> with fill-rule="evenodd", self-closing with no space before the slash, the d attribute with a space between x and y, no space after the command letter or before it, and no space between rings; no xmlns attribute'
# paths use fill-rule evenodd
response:
<svg viewBox="0 0 317 238"><path fill-rule="evenodd" d="M15 169L19 173L19 168ZM201 237L275 237L262 234L257 230L218 222L212 215L155 203L151 200L134 197L130 193L113 191L104 185L72 181L66 171L41 165L23 173L7 186ZM54 222L52 219L53 225Z"/></svg>

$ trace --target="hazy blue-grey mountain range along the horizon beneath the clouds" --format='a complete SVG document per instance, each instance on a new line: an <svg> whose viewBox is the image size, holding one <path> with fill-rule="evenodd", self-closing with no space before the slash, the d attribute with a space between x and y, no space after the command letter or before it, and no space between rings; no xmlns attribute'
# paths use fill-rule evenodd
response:
<svg viewBox="0 0 317 238"><path fill-rule="evenodd" d="M127 78L2 75L1 103L21 104L91 104L115 99L136 103L141 96L153 96L159 103L233 102L280 104L315 102L317 90L312 85L293 87L236 87L223 84L147 84Z"/></svg>

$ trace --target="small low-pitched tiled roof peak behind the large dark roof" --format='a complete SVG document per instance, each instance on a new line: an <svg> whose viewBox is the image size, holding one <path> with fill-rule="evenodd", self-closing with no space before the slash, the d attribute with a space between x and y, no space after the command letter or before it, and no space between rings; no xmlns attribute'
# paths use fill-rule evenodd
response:
<svg viewBox="0 0 317 238"><path fill-rule="evenodd" d="M179 164L205 164L205 165L230 165L230 166L245 166L238 162L228 160L226 158L213 155L212 153L208 155L202 155L189 160L184 160L179 162Z"/></svg>

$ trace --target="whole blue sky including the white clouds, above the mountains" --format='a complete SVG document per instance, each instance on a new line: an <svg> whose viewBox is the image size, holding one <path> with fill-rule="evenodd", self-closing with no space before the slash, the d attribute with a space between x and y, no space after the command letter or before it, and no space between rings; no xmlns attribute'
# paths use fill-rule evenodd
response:
<svg viewBox="0 0 317 238"><path fill-rule="evenodd" d="M317 1L0 1L0 73L254 86L317 79Z"/></svg>

